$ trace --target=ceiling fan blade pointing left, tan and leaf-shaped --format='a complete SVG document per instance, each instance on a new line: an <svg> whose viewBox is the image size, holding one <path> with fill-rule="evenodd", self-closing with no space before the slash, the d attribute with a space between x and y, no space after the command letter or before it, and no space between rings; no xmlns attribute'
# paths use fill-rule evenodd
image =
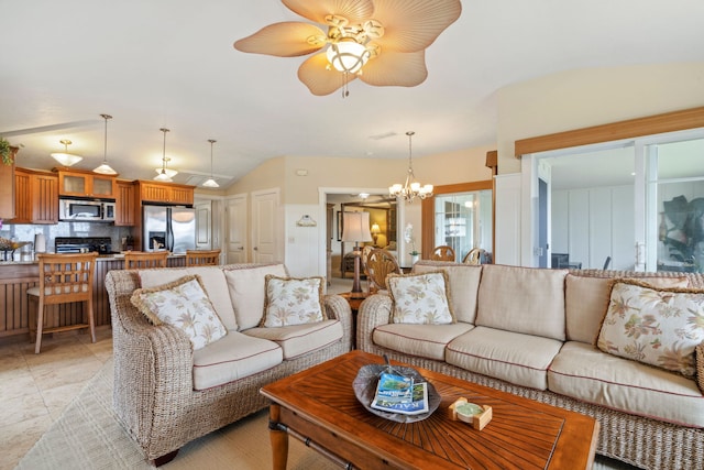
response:
<svg viewBox="0 0 704 470"><path fill-rule="evenodd" d="M324 37L326 33L314 24L287 21L270 24L235 41L234 48L277 57L297 57L319 51L326 45Z"/></svg>

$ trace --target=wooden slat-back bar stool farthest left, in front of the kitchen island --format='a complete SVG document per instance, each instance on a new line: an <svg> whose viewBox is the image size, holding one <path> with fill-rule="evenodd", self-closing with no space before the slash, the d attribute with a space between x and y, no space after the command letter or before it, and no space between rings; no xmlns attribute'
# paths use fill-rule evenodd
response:
<svg viewBox="0 0 704 470"><path fill-rule="evenodd" d="M34 352L40 353L42 336L55 331L90 328L90 339L96 342L96 321L92 314L92 285L98 253L37 254L40 260L40 285L26 289L30 303L38 302ZM85 302L88 306L88 323L44 327L44 307L47 305ZM33 317L31 317L33 318Z"/></svg>

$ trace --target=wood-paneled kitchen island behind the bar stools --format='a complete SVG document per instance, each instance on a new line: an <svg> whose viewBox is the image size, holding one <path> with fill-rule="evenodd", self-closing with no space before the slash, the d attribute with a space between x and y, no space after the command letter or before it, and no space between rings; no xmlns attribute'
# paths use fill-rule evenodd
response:
<svg viewBox="0 0 704 470"><path fill-rule="evenodd" d="M168 266L186 265L185 254L168 256ZM124 269L124 255L100 255L96 262L94 276L94 316L96 326L110 325L110 304L105 280L108 271ZM35 307L30 311L26 289L38 285L38 261L0 262L0 340L3 337L23 335L30 331L30 315L35 316ZM84 323L84 304L62 304L46 307L46 326L64 326Z"/></svg>

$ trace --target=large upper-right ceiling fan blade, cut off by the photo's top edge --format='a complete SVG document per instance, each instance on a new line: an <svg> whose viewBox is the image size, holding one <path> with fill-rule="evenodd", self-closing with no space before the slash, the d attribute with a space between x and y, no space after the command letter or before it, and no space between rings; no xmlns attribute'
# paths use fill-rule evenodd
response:
<svg viewBox="0 0 704 470"><path fill-rule="evenodd" d="M384 53L428 47L462 13L460 0L376 0L374 4L374 19L385 29L375 42Z"/></svg>

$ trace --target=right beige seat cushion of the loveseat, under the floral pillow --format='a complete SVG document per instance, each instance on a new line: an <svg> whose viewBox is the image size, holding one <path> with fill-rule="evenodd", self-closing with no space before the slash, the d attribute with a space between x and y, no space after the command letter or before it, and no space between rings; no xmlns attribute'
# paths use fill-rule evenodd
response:
<svg viewBox="0 0 704 470"><path fill-rule="evenodd" d="M339 320L323 320L287 327L250 328L243 334L273 341L284 351L284 359L296 359L339 341L343 330Z"/></svg>

